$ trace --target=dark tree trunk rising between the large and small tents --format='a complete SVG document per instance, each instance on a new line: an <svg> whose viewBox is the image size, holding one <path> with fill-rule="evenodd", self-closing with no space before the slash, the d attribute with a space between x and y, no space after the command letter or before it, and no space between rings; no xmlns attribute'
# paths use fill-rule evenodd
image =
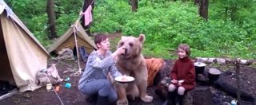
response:
<svg viewBox="0 0 256 105"><path fill-rule="evenodd" d="M56 38L56 26L55 26L55 11L54 11L54 0L47 0L46 12L48 15L48 37L50 39Z"/></svg>

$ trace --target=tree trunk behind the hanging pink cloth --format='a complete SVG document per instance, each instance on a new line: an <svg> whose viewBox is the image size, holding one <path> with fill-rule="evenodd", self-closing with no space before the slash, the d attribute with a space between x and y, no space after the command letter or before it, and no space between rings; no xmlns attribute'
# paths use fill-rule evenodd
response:
<svg viewBox="0 0 256 105"><path fill-rule="evenodd" d="M91 10L91 14L93 14L93 11L94 11L94 0L85 0L83 2L83 5L82 5L82 12L85 12L88 8L88 6L92 6L92 10ZM85 16L82 15L82 18L80 19L81 21L81 25L83 27L83 29L86 29L86 33L91 36L90 34L90 25L85 25Z"/></svg>

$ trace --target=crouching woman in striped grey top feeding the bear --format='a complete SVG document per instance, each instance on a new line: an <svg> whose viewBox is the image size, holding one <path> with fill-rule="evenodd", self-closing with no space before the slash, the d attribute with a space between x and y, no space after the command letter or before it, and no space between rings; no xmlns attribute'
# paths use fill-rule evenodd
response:
<svg viewBox="0 0 256 105"><path fill-rule="evenodd" d="M85 95L98 95L97 105L108 105L118 99L110 80L107 80L108 72L111 76L122 76L114 63L114 57L125 52L118 48L110 52L110 42L105 34L99 33L94 37L94 43L98 49L90 53L85 71L78 83L78 88Z"/></svg>

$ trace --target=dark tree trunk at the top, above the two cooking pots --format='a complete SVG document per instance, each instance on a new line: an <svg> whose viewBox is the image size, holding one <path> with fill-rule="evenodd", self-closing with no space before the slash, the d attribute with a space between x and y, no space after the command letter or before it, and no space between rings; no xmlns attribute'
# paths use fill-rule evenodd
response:
<svg viewBox="0 0 256 105"><path fill-rule="evenodd" d="M199 0L199 15L202 18L205 18L206 21L208 20L208 6L209 6L208 0Z"/></svg>

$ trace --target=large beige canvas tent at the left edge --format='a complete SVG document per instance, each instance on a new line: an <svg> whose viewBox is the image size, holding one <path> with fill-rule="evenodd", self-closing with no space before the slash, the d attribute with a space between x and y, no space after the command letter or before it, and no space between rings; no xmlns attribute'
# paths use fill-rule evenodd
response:
<svg viewBox="0 0 256 105"><path fill-rule="evenodd" d="M0 15L0 80L19 91L33 91L39 88L36 73L46 68L49 54L3 0Z"/></svg>

